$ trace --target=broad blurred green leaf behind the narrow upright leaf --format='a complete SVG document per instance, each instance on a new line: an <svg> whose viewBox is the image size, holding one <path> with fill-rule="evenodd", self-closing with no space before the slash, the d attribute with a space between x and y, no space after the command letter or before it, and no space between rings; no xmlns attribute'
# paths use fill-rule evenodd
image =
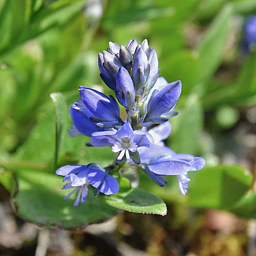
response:
<svg viewBox="0 0 256 256"><path fill-rule="evenodd" d="M48 164L52 163L55 154L55 117L53 114L38 122L29 134L27 140L20 146L15 158L15 169L18 165L22 167L49 170ZM86 136L70 137L68 129L63 140L62 150L58 162L62 165L68 163L89 164L97 163L102 167L113 163L116 154L109 147L88 147L90 138ZM104 157L101 157L104 156ZM12 162L8 164L11 170Z"/></svg>

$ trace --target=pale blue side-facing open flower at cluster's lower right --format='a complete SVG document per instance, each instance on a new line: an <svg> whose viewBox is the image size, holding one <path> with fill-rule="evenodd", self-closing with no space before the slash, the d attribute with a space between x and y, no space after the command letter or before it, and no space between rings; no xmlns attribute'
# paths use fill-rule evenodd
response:
<svg viewBox="0 0 256 256"><path fill-rule="evenodd" d="M167 181L163 176L176 175L182 195L187 192L189 181L187 172L200 170L205 166L202 157L195 157L188 154L176 154L166 147L162 140L169 136L171 125L169 122L160 124L150 131L155 141L155 148L141 147L138 149L142 167L146 173L160 186L164 186Z"/></svg>

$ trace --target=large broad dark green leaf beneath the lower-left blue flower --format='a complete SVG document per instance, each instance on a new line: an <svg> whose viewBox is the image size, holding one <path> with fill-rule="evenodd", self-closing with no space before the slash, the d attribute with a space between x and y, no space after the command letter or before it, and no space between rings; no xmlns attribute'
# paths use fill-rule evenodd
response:
<svg viewBox="0 0 256 256"><path fill-rule="evenodd" d="M119 210L94 197L89 189L84 204L74 207L76 195L63 198L71 190L62 190L60 177L34 170L21 170L17 174L18 192L13 198L17 215L39 226L80 229L102 222L118 214Z"/></svg>

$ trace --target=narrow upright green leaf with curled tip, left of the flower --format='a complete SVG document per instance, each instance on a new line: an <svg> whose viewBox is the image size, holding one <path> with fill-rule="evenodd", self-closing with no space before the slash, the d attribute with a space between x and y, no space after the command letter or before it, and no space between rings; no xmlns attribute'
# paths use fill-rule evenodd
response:
<svg viewBox="0 0 256 256"><path fill-rule="evenodd" d="M55 140L55 165L57 163L58 155L61 149L63 138L67 129L67 104L66 100L61 93L52 93L51 95L55 115L56 115L56 140Z"/></svg>

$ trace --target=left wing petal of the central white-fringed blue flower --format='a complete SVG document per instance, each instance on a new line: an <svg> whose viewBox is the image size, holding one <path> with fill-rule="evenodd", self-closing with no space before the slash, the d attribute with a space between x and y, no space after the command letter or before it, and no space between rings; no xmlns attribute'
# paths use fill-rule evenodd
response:
<svg viewBox="0 0 256 256"><path fill-rule="evenodd" d="M116 132L114 132L114 131L93 133L90 143L93 146L112 146L117 141L115 139L115 134L116 134Z"/></svg>

